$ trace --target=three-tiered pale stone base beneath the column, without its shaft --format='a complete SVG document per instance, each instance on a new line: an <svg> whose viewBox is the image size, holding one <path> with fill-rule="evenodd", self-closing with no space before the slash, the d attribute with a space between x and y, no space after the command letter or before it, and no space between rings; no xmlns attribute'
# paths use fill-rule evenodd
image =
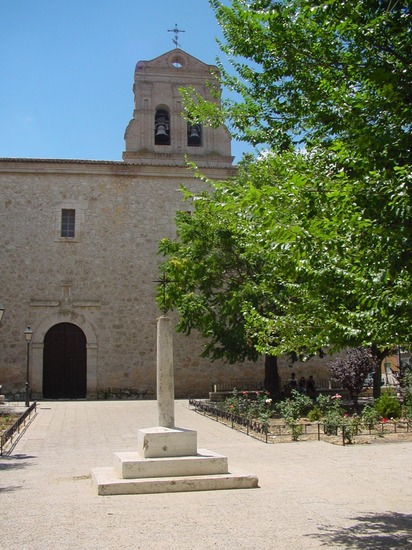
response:
<svg viewBox="0 0 412 550"><path fill-rule="evenodd" d="M113 467L94 468L99 495L212 491L258 487L254 474L228 471L227 458L197 450L197 433L183 428L138 432L138 451L114 453Z"/></svg>

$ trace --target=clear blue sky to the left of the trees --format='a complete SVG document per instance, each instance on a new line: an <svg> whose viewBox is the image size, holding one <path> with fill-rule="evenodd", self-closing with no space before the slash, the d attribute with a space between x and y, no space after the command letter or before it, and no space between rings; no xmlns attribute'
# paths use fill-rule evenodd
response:
<svg viewBox="0 0 412 550"><path fill-rule="evenodd" d="M0 157L121 160L140 60L214 64L208 0L0 0ZM232 144L236 162L247 146Z"/></svg>

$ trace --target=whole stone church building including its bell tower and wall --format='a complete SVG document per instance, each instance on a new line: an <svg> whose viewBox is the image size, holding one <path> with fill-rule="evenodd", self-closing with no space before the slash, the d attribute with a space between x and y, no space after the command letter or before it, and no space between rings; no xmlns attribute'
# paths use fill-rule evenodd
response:
<svg viewBox="0 0 412 550"><path fill-rule="evenodd" d="M181 114L179 88L212 100L216 72L179 48L139 61L122 161L0 159L2 393L24 392L30 326L32 398L156 396L158 242L188 209L180 187L203 185L186 157L211 179L235 173L228 130ZM263 378L260 364L211 362L201 350L199 337L176 334L177 398Z"/></svg>

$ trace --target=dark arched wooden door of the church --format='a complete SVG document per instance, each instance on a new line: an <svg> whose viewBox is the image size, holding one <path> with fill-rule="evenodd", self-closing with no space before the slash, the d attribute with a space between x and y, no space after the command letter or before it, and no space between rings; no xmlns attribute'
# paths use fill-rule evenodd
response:
<svg viewBox="0 0 412 550"><path fill-rule="evenodd" d="M54 325L44 338L43 397L86 397L87 350L84 332L71 323Z"/></svg>

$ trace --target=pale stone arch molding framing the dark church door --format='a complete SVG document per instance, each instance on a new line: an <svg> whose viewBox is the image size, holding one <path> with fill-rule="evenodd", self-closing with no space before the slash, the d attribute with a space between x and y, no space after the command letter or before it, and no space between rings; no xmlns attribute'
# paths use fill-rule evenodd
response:
<svg viewBox="0 0 412 550"><path fill-rule="evenodd" d="M32 361L30 373L30 386L32 398L43 397L43 349L44 337L49 329L59 323L72 323L79 327L86 336L87 341L87 390L89 399L97 396L97 336L92 323L83 315L74 311L53 313L45 317L40 323L33 326L33 339L31 343Z"/></svg>

